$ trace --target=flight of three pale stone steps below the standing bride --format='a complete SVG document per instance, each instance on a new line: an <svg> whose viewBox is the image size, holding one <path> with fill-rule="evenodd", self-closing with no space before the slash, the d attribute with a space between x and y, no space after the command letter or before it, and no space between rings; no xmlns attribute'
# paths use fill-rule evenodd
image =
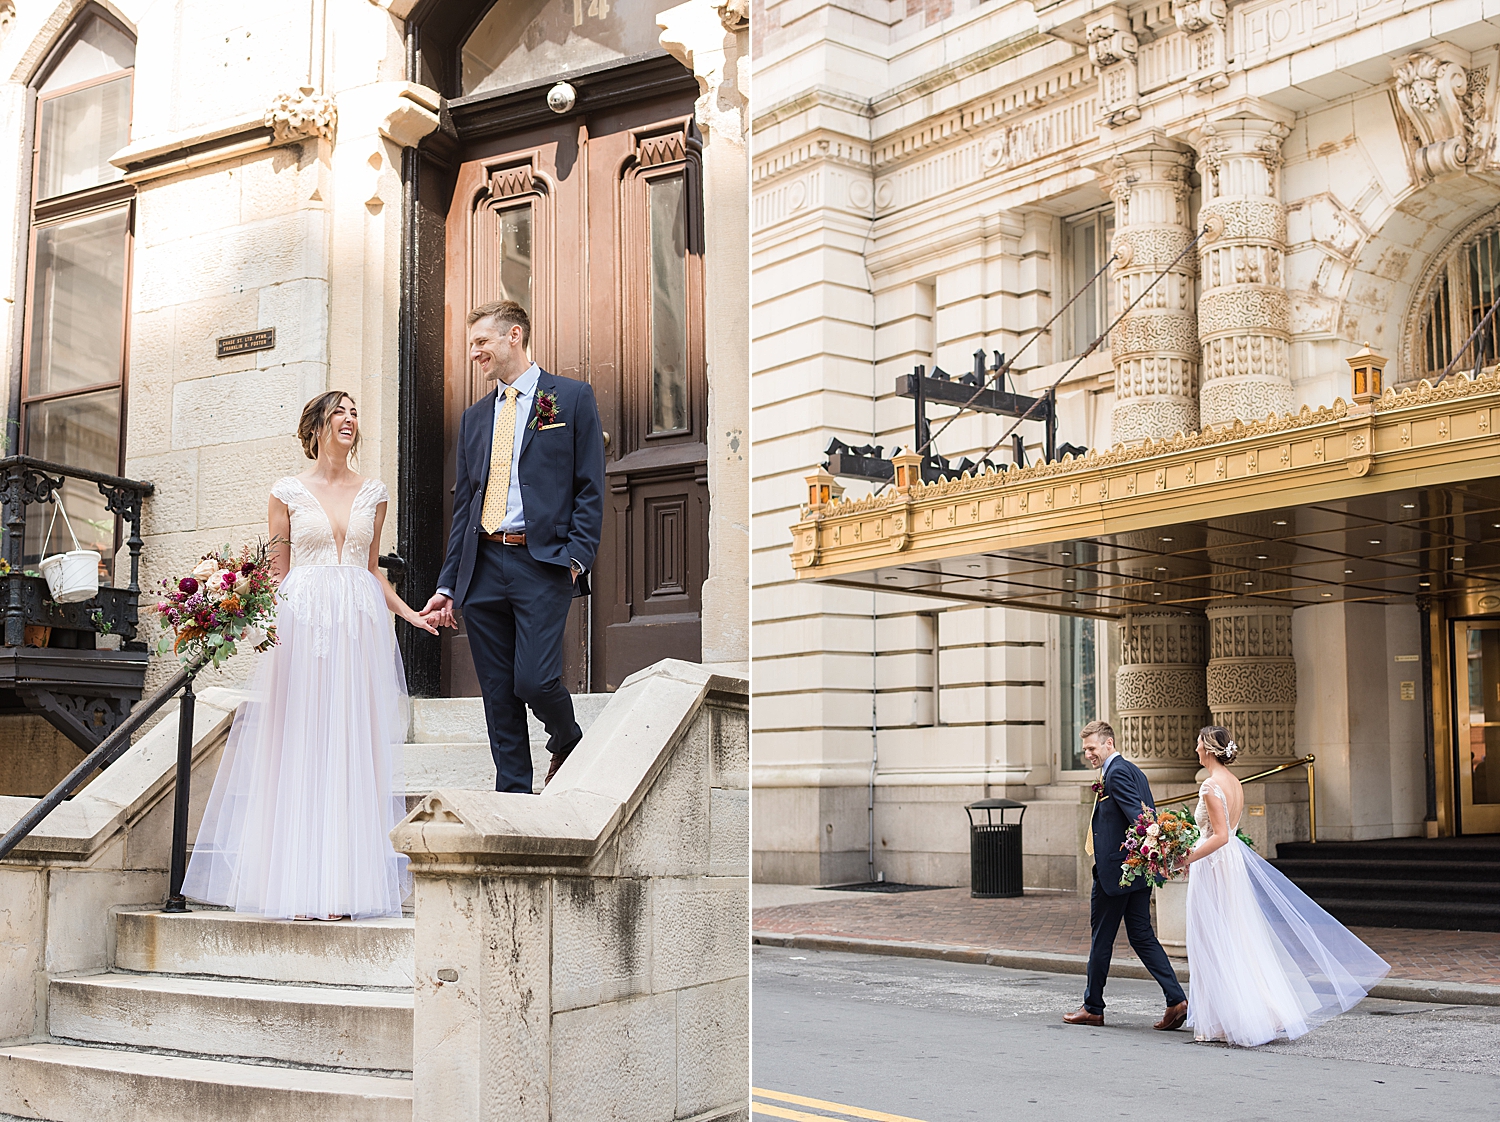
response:
<svg viewBox="0 0 1500 1122"><path fill-rule="evenodd" d="M50 1040L0 1048L0 1114L410 1122L411 920L120 912L106 974L51 978Z"/></svg>

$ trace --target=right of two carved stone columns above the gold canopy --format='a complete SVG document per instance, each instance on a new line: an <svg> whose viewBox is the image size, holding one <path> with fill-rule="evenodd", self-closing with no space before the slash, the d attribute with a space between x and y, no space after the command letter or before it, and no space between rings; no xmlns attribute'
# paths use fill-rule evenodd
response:
<svg viewBox="0 0 1500 1122"><path fill-rule="evenodd" d="M1203 207L1198 226L1198 339L1203 428L1292 411L1287 345L1292 310L1282 284L1287 208L1280 200L1280 120L1236 117L1197 130Z"/></svg>

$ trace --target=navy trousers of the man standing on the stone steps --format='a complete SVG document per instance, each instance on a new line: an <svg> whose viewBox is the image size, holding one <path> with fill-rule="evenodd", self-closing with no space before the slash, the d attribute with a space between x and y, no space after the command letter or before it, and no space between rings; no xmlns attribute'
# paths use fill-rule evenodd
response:
<svg viewBox="0 0 1500 1122"><path fill-rule="evenodd" d="M566 756L584 738L562 684L562 627L572 603L570 570L537 561L525 546L480 538L460 608L484 694L495 790L531 794L528 705L554 754Z"/></svg>

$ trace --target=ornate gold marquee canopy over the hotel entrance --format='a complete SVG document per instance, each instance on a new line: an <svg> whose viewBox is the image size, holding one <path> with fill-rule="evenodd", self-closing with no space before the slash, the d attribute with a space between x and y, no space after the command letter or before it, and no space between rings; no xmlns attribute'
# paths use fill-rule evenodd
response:
<svg viewBox="0 0 1500 1122"><path fill-rule="evenodd" d="M819 472L792 566L1107 618L1245 597L1408 602L1500 578L1500 376L1377 396L1378 366L1359 358L1353 404L928 484L906 453L896 486L855 501Z"/></svg>

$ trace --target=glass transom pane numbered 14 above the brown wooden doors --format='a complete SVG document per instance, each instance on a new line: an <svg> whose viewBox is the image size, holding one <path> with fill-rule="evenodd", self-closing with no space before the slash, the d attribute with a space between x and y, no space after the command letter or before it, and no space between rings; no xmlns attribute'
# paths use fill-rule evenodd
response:
<svg viewBox="0 0 1500 1122"><path fill-rule="evenodd" d="M500 0L464 42L464 93L507 90L660 54L656 16L681 0Z"/></svg>

